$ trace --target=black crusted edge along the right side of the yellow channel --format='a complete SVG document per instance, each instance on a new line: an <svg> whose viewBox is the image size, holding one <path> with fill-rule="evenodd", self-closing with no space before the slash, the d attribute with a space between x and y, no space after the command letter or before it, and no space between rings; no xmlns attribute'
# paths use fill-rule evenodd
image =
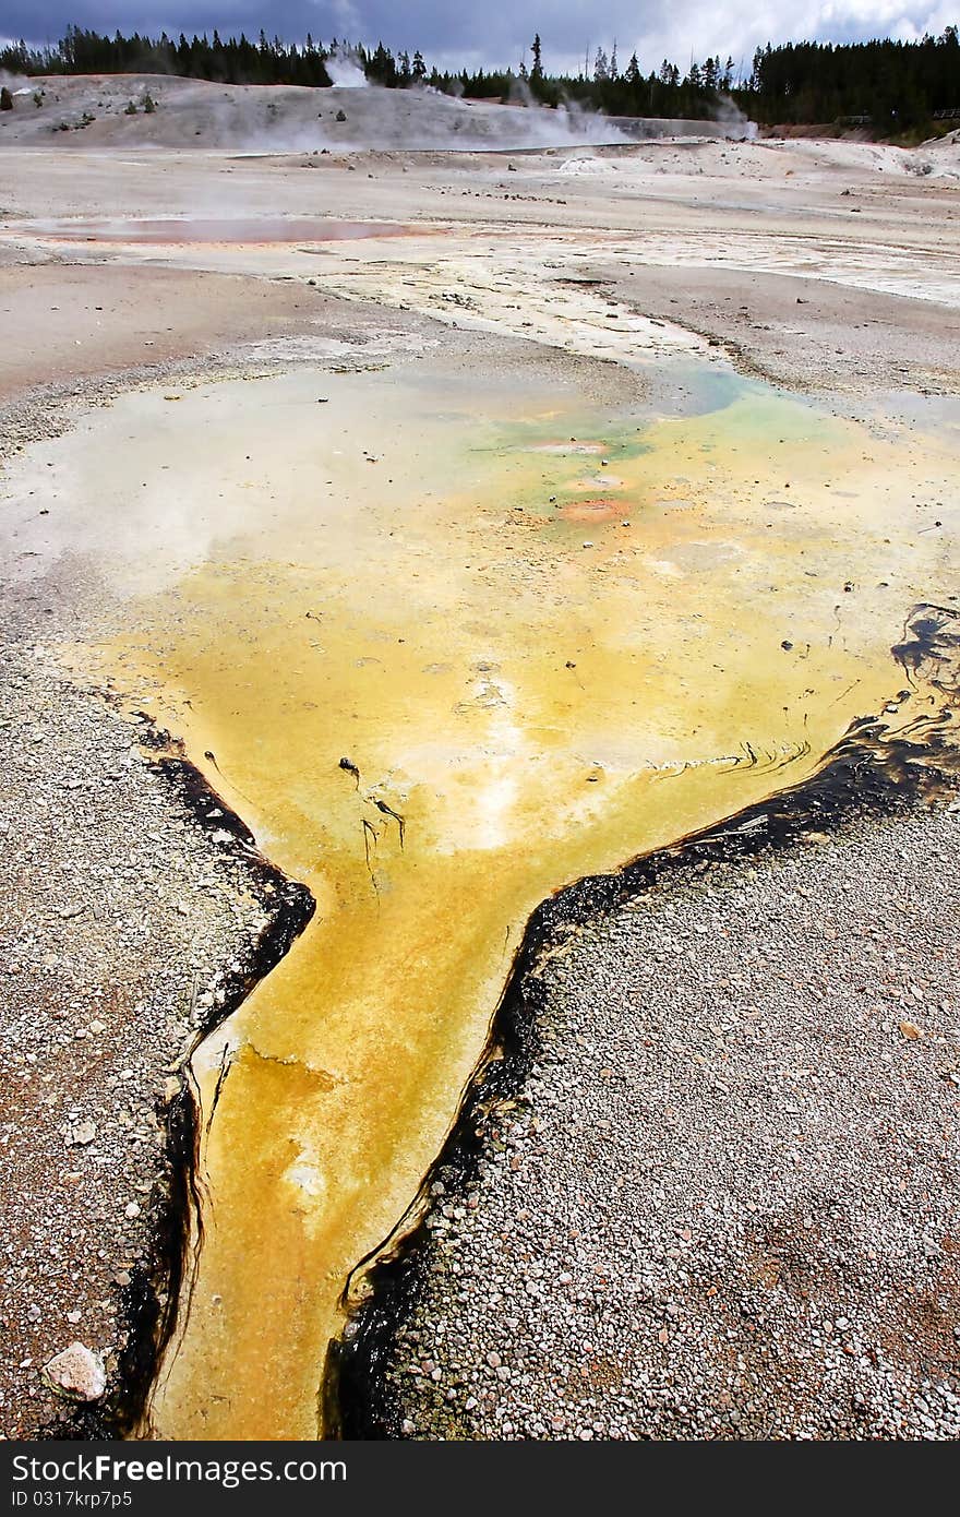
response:
<svg viewBox="0 0 960 1517"><path fill-rule="evenodd" d="M500 1101L517 1097L526 1083L540 1048L537 1025L544 1000L543 983L531 969L544 950L563 941L563 930L690 871L780 851L807 831L836 831L858 816L902 815L960 789L960 749L954 736L960 613L927 604L913 607L892 655L911 687L921 669L928 674L928 683L943 696L939 710L916 716L896 733L880 716L851 722L810 778L642 854L613 874L578 880L531 915L453 1129L391 1236L347 1280L343 1303L352 1311L349 1333L329 1344L318 1397L328 1438L396 1437L391 1427L399 1408L382 1371L429 1268L429 1189L441 1171L447 1191L450 1186L460 1191L476 1176L488 1115ZM901 690L886 715L898 711L911 693Z"/></svg>

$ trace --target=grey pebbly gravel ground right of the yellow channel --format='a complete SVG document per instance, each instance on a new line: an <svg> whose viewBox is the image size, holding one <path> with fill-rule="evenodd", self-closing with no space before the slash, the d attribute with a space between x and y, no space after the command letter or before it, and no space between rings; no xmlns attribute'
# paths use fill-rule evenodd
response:
<svg viewBox="0 0 960 1517"><path fill-rule="evenodd" d="M554 934L379 1435L955 1438L958 925L954 802Z"/></svg>

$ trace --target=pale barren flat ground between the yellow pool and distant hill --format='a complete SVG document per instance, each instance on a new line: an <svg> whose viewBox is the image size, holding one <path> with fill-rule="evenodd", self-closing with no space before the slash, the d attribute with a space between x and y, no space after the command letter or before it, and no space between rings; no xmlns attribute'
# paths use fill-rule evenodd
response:
<svg viewBox="0 0 960 1517"><path fill-rule="evenodd" d="M376 97L362 90L341 94L349 97L347 112L359 118L367 97ZM376 99L375 106L382 114ZM130 152L94 150L86 133L58 133L56 149L8 150L12 129L5 138L0 121L0 267L24 258L93 262L103 278L120 281L117 300L93 313L105 328L111 306L120 309L129 299L130 262L253 275L250 299L265 302L267 319L278 281L312 278L323 285L329 275L341 294L353 290L393 305L408 300L447 325L469 325L470 311L450 309L444 296L461 291L464 281L469 287L472 270L482 279L493 258L497 282L513 291L502 305L540 291L551 302L560 281L595 279L601 296L654 322L702 334L704 346L720 344L717 350L729 350L742 367L784 384L858 396L955 387L955 133L910 152L846 141L682 140L496 153L400 147L358 153L323 152L317 138L302 152L267 156L167 147L156 124L161 115L130 118L140 123L141 140L153 133L156 141ZM510 133L505 141L511 143ZM267 235L278 235L285 217L394 221L429 234L429 244L375 238L332 253L329 246L300 252L293 244L282 256L268 247L194 244L165 249L158 258L152 249L130 253L91 246L83 228L73 243L56 243L50 228L41 235L42 228L29 225L171 215L265 217L271 221ZM23 284L23 273L18 278ZM159 285L159 270L155 278ZM402 281L413 287L405 291ZM268 300L264 287L271 291ZM176 297L171 290L167 320L155 323L159 331L144 331L144 361L153 356L149 344L162 341L170 325L199 329L209 340L209 325L231 303L226 285L215 299L202 287L188 291L188 282ZM42 285L36 303L41 294ZM83 302L97 303L103 302ZM294 303L288 302L288 314ZM49 305L61 302L52 297ZM79 343L82 363L96 332L83 326L80 311L27 308L23 329L33 334L44 314L58 317L47 323L58 349ZM494 331L540 335L531 334L519 311L513 319L507 309L479 314L490 317ZM124 334L124 360L130 361L138 328L115 322L114 331ZM45 346L33 344L38 366ZM59 361L73 367L73 355Z"/></svg>

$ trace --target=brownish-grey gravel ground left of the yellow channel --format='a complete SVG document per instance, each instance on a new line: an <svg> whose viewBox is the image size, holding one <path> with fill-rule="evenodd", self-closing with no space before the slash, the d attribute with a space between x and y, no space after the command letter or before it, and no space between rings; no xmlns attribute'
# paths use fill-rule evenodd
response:
<svg viewBox="0 0 960 1517"><path fill-rule="evenodd" d="M184 1051L255 972L284 881L214 801L194 810L144 763L146 721L70 686L6 608L0 1434L89 1435L135 1409L179 1244L167 1127ZM71 1343L106 1370L96 1408L44 1376Z"/></svg>

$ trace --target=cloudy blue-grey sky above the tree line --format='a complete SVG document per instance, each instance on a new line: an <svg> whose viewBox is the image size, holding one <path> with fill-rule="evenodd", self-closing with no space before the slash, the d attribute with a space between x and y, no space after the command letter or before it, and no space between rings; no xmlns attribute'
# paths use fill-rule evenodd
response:
<svg viewBox="0 0 960 1517"><path fill-rule="evenodd" d="M576 73L584 55L617 42L620 65L635 49L645 71L663 58L729 53L739 65L767 41L861 41L939 35L960 18L960 0L0 0L0 36L55 41L68 24L99 32L221 33L261 26L299 41L349 36L394 50L419 47L440 67L513 65L534 32L547 71ZM529 56L528 56L529 61Z"/></svg>

